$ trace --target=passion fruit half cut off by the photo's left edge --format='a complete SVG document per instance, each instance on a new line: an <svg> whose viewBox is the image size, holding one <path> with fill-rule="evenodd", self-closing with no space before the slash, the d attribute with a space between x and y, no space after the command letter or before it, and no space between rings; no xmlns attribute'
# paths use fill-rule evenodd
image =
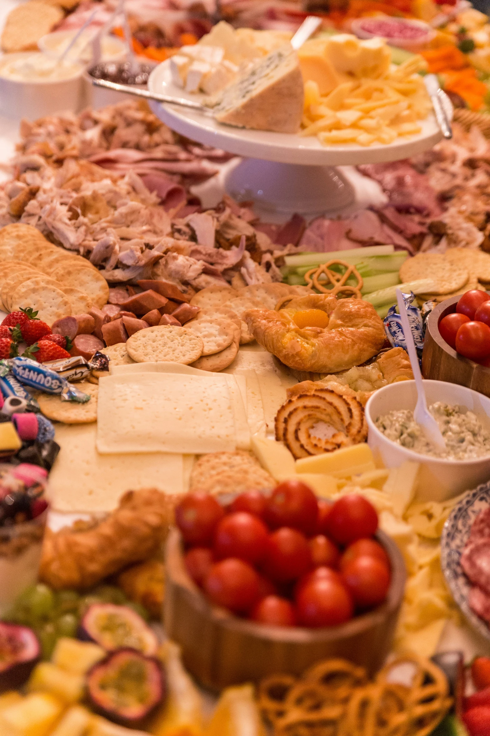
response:
<svg viewBox="0 0 490 736"><path fill-rule="evenodd" d="M0 693L24 684L40 656L40 643L32 629L0 621Z"/></svg>

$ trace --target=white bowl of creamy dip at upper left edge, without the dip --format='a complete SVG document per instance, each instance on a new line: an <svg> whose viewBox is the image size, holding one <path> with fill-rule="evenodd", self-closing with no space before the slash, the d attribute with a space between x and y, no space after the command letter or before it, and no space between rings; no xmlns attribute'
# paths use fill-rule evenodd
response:
<svg viewBox="0 0 490 736"><path fill-rule="evenodd" d="M78 112L83 105L82 74L84 68L68 79L10 79L2 76L2 68L9 61L27 58L35 52L3 54L0 57L0 110L10 118L35 120L62 110Z"/></svg>

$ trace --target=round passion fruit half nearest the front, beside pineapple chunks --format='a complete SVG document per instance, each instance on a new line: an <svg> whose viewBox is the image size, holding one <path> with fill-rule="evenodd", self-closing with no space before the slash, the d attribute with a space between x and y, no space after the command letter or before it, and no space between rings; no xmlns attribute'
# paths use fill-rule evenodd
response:
<svg viewBox="0 0 490 736"><path fill-rule="evenodd" d="M141 726L165 697L165 680L157 659L134 649L108 654L87 674L90 703L121 726Z"/></svg>

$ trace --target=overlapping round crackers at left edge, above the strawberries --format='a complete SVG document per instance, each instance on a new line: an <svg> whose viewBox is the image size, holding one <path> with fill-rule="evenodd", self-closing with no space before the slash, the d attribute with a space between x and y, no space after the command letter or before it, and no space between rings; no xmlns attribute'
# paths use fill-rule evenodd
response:
<svg viewBox="0 0 490 736"><path fill-rule="evenodd" d="M0 299L4 311L32 307L52 325L107 303L109 286L95 266L51 244L36 227L0 230Z"/></svg>

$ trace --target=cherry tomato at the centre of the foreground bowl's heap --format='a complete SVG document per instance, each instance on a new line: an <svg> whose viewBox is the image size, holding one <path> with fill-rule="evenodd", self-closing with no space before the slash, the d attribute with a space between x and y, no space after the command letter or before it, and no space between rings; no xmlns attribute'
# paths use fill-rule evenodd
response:
<svg viewBox="0 0 490 736"><path fill-rule="evenodd" d="M305 535L287 526L270 534L263 567L267 577L283 583L306 573L311 552Z"/></svg>

